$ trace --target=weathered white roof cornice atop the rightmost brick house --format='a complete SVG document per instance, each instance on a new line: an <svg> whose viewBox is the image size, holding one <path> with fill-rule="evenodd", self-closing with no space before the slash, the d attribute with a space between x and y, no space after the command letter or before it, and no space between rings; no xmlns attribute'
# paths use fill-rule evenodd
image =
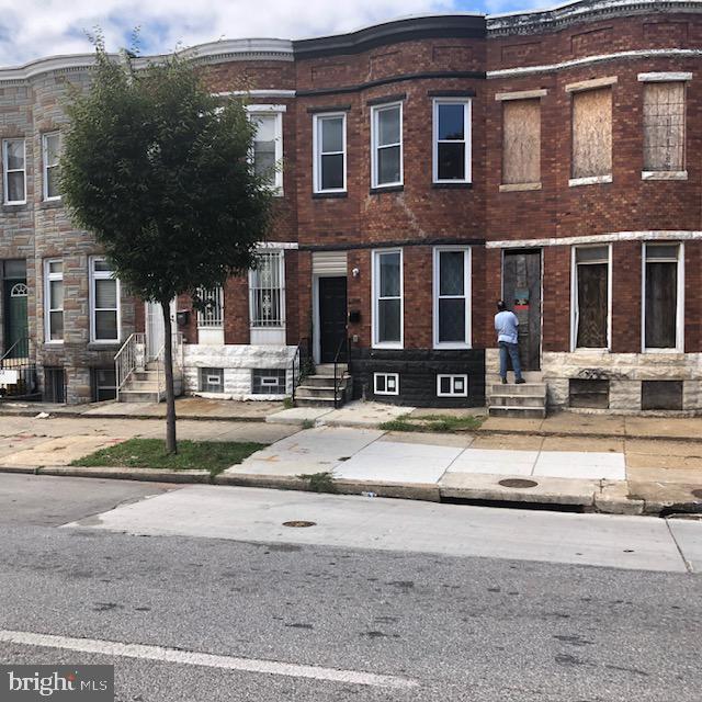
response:
<svg viewBox="0 0 702 702"><path fill-rule="evenodd" d="M699 0L576 0L545 10L488 15L487 34L537 34L577 22L671 11L699 13L702 12L702 3Z"/></svg>

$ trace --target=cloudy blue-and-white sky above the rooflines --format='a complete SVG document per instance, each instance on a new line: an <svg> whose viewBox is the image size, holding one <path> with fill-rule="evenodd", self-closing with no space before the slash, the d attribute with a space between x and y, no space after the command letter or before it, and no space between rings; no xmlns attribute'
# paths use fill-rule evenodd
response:
<svg viewBox="0 0 702 702"><path fill-rule="evenodd" d="M554 0L0 0L0 66L92 50L100 27L109 50L132 46L139 27L143 54L220 38L304 38L346 32L408 14L509 12Z"/></svg>

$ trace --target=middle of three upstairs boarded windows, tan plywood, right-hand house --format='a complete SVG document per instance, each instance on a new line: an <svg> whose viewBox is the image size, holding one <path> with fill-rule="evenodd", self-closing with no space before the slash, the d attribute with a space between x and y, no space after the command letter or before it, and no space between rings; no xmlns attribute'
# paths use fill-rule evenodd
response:
<svg viewBox="0 0 702 702"><path fill-rule="evenodd" d="M612 90L573 93L573 178L612 173Z"/></svg>

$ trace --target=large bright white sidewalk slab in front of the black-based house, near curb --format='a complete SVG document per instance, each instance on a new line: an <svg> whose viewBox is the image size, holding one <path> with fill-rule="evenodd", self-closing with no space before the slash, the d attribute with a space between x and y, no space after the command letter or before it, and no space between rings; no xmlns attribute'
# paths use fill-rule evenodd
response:
<svg viewBox="0 0 702 702"><path fill-rule="evenodd" d="M437 483L461 448L376 441L338 465L335 477L378 483Z"/></svg>

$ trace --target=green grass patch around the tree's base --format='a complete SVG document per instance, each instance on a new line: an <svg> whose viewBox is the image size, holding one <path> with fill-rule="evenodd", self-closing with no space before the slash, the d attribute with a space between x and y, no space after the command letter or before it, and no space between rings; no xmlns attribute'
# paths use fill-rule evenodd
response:
<svg viewBox="0 0 702 702"><path fill-rule="evenodd" d="M178 453L167 453L160 439L129 439L71 463L77 466L124 466L167 471L210 471L217 475L241 463L264 444L230 441L179 441Z"/></svg>

